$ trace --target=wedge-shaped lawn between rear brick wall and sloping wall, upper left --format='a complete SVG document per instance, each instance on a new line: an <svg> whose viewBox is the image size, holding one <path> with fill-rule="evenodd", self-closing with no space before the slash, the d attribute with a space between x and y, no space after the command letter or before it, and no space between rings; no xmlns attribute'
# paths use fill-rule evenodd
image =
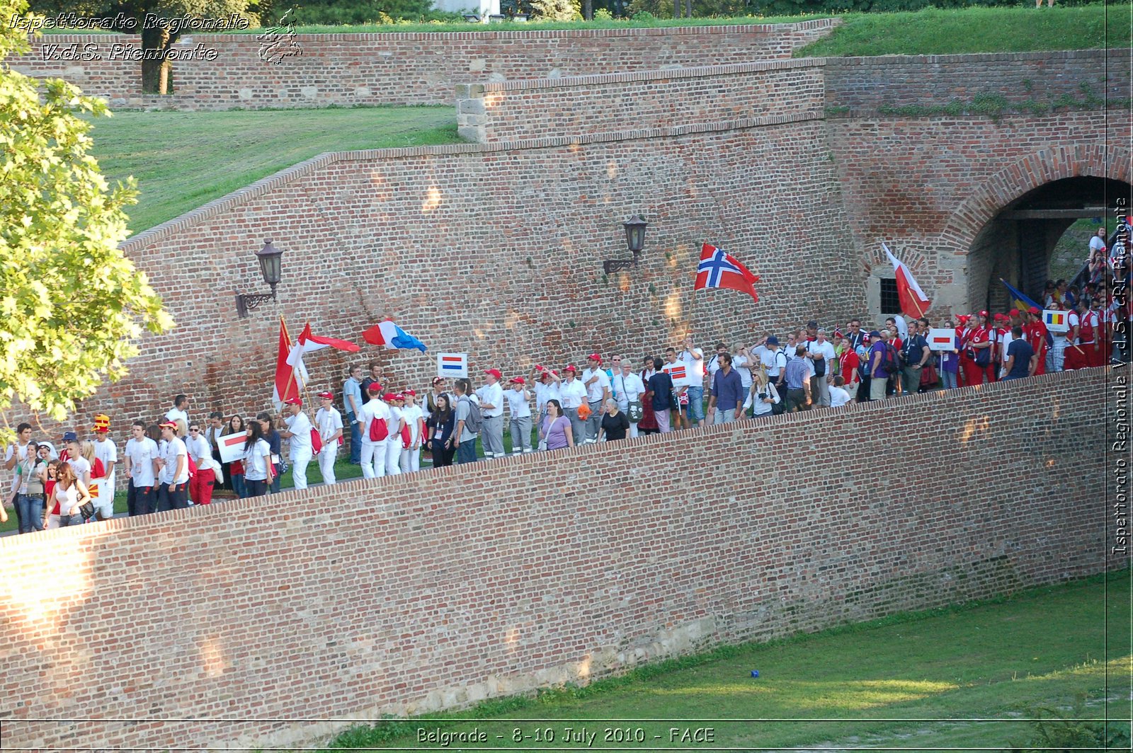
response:
<svg viewBox="0 0 1133 753"><path fill-rule="evenodd" d="M111 180L134 176L138 232L323 152L458 142L451 106L119 111L99 118L93 154Z"/></svg>

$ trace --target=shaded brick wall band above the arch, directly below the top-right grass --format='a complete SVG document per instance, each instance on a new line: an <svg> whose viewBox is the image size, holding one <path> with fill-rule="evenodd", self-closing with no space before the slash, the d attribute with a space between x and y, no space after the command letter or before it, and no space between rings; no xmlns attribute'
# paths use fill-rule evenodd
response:
<svg viewBox="0 0 1133 753"><path fill-rule="evenodd" d="M826 59L826 102L847 108L837 112L844 117L876 115L883 108L971 104L989 94L1012 105L1048 108L1064 97L1127 102L1128 50Z"/></svg>

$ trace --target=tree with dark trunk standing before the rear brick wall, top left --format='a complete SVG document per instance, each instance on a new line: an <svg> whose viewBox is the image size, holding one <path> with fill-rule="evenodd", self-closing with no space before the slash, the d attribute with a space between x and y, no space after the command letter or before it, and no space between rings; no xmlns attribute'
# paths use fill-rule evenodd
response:
<svg viewBox="0 0 1133 753"><path fill-rule="evenodd" d="M142 35L142 91L168 94L171 63L167 55L182 32L176 22L189 18L228 18L230 14L258 19L248 14L249 0L33 0L32 10L43 14L74 12L83 18L112 19L110 31ZM152 17L152 18L151 18ZM9 18L9 16L5 16ZM165 23L146 23L146 19Z"/></svg>

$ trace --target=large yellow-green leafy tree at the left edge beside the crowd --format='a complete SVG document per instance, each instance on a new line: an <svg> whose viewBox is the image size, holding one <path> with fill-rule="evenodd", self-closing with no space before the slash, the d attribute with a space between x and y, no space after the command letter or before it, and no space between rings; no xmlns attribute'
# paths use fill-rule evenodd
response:
<svg viewBox="0 0 1133 753"><path fill-rule="evenodd" d="M0 0L3 18L26 9ZM109 188L87 154L86 117L109 115L105 103L10 70L3 58L27 49L0 26L0 411L19 400L61 421L126 374L143 326L173 322L118 248L133 181Z"/></svg>

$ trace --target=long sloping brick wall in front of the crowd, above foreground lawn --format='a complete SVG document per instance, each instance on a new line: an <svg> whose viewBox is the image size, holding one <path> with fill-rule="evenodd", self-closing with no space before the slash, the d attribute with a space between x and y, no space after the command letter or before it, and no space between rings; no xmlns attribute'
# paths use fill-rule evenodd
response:
<svg viewBox="0 0 1133 753"><path fill-rule="evenodd" d="M343 724L212 720L420 712L1122 566L1107 378L0 539L0 742L284 746Z"/></svg>

